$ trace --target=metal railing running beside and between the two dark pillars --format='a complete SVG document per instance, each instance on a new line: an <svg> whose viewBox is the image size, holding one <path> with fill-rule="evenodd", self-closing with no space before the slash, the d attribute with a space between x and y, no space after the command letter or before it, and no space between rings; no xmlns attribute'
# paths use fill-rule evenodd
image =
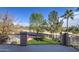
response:
<svg viewBox="0 0 79 59"><path fill-rule="evenodd" d="M32 36L37 35L36 33L27 33L27 32L26 33L20 33L20 34L8 34L8 37L9 38L3 44L21 44L21 39L22 40L23 39L26 39L27 40L26 37L25 38L22 38L23 36L27 36L27 34L28 35L32 35ZM51 37L51 35L49 35L49 34L42 34L42 33L40 33L39 36L40 35L45 35L45 36ZM60 38L60 36L61 35L54 35L54 38L57 38L57 39L62 40ZM0 35L0 40L2 38L3 39L6 39L4 37L1 37L1 35ZM73 34L69 34L69 37L68 37L68 40L67 40L67 44L79 49L79 36L76 36L76 35L73 35Z"/></svg>

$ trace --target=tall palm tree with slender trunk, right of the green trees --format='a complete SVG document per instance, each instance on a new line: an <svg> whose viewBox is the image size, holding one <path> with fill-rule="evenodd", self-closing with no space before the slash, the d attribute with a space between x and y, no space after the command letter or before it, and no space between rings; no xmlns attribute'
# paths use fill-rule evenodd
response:
<svg viewBox="0 0 79 59"><path fill-rule="evenodd" d="M64 19L67 19L67 28L66 28L66 31L68 33L68 20L69 19L74 19L74 13L73 13L72 10L66 10L65 14L62 17L64 17Z"/></svg>

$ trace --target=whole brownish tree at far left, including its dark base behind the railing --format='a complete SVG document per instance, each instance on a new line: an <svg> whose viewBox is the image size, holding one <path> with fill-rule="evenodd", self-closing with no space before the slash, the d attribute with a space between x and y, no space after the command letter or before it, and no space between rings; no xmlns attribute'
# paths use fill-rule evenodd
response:
<svg viewBox="0 0 79 59"><path fill-rule="evenodd" d="M14 31L13 18L8 13L0 14L0 44L7 42L9 38L8 34Z"/></svg>

